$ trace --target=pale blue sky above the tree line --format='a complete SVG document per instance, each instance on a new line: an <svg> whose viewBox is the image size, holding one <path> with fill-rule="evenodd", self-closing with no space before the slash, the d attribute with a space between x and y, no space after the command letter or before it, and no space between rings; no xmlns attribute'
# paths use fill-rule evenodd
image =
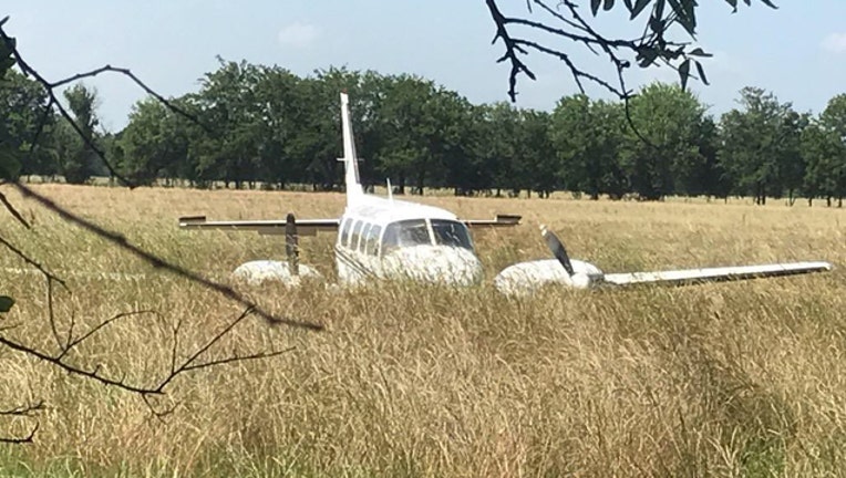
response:
<svg viewBox="0 0 846 478"><path fill-rule="evenodd" d="M693 90L712 113L734 107L745 85L813 112L846 93L846 1L775 1L776 11L755 0L736 14L722 0L701 2L699 41L715 56L705 63L711 85ZM501 3L525 11L524 0ZM502 46L491 44L494 25L484 0L18 0L0 8L6 14L22 54L52 80L112 64L131 69L164 95L180 95L196 91L221 55L300 75L329 65L415 73L473 102L507 100L508 69L495 62ZM606 14L599 28L610 35L632 25L621 14ZM580 65L612 77L605 60L565 46ZM551 110L577 92L560 62L533 54L527 63L538 80L520 81L519 106ZM629 73L633 85L654 79L677 80L667 69ZM113 131L144 96L120 76L89 84L101 95L103 125Z"/></svg>

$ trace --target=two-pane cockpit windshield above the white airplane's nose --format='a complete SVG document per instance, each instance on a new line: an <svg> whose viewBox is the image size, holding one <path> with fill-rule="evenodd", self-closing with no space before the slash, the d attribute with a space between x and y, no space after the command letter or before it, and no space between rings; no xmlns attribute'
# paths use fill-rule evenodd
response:
<svg viewBox="0 0 846 478"><path fill-rule="evenodd" d="M430 225L434 238L430 232ZM410 219L388 225L382 236L382 254L396 248L413 246L451 246L473 250L467 227L458 221Z"/></svg>

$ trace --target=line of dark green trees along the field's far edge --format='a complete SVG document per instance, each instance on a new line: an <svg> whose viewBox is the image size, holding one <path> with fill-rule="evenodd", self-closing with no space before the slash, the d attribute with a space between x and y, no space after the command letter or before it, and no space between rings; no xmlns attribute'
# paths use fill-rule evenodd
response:
<svg viewBox="0 0 846 478"><path fill-rule="evenodd" d="M185 114L145 98L113 133L99 127L99 98L84 84L64 92L73 127L45 112L37 84L17 72L8 76L0 89L6 136L31 152L19 174L76 184L110 176L103 153L114 173L134 184L338 189L338 93L347 90L362 179L391 178L399 194L570 190L592 199L736 195L759 204L804 197L828 205L846 196L846 94L814 115L744 87L737 107L714 117L681 86L652 83L626 103L570 95L543 112L473 104L407 74L331 67L301 77L220 60L197 92L169 101Z"/></svg>

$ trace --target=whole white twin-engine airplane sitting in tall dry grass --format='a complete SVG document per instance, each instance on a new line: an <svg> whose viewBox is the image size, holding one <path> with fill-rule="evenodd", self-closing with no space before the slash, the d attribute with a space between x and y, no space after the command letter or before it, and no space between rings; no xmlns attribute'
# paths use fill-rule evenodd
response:
<svg viewBox="0 0 846 478"><path fill-rule="evenodd" d="M341 127L345 167L347 207L340 218L285 220L209 221L185 217L185 229L254 230L262 235L285 235L287 261L258 260L238 267L234 274L256 283L274 279L288 284L320 274L299 263L298 237L318 231L338 231L334 246L339 281L344 285L371 281L411 279L445 285L474 285L483 280L468 228L510 227L519 216L497 215L493 220L462 220L454 214L420 204L364 194L359 180L358 157L352 135L349 100L341 93ZM561 241L541 226L541 235L555 259L520 262L504 269L494 285L513 295L546 284L577 289L642 283L687 284L828 271L828 262L792 262L657 272L603 273L596 266L570 260Z"/></svg>

